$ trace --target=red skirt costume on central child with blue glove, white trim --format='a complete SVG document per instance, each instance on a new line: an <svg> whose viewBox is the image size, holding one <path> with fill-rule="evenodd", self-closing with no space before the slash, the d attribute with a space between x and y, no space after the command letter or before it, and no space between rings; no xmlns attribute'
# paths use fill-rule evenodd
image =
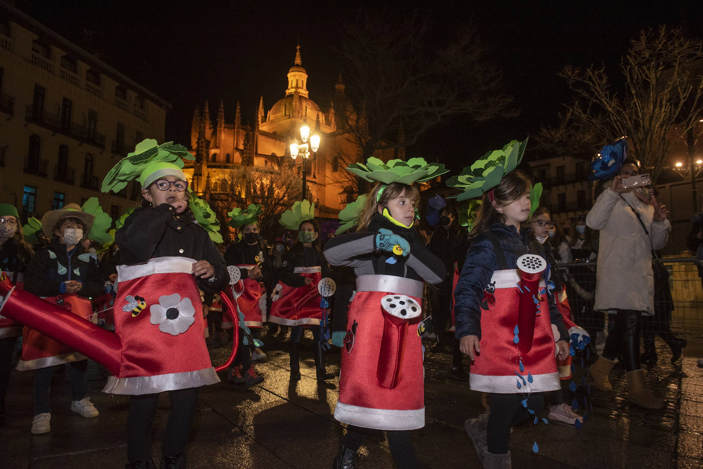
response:
<svg viewBox="0 0 703 469"><path fill-rule="evenodd" d="M417 333L422 295L423 282L410 278L356 278L335 408L340 422L378 430L425 426L423 348ZM411 300L417 311L399 309ZM384 304L396 310L389 312Z"/></svg>

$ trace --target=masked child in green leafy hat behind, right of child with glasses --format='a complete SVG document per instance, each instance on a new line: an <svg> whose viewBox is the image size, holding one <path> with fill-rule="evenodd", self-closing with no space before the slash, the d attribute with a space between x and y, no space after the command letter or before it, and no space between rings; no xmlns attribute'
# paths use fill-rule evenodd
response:
<svg viewBox="0 0 703 469"><path fill-rule="evenodd" d="M232 218L229 226L241 229L242 239L232 243L224 254L228 268L240 270L240 282L228 288L226 293L231 297L244 316L240 328L261 330L266 321L266 290L262 283L271 281L271 263L266 255L266 248L259 239L259 221L261 205L250 204L246 210L234 208L228 215ZM263 308L262 308L263 305ZM237 314L237 311L228 311ZM252 338L260 334L252 332ZM247 342L245 345L244 342ZM266 354L255 344L248 343L245 333L239 334L237 358L228 373L228 381L246 387L261 383L264 378L257 375L252 366L252 360L266 359Z"/></svg>

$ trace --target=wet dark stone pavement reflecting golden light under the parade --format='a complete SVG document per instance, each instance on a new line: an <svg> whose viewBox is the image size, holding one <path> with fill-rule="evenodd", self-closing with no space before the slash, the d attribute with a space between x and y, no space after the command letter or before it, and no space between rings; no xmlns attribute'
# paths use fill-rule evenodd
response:
<svg viewBox="0 0 703 469"><path fill-rule="evenodd" d="M278 338L264 337L269 359L256 368L264 383L241 390L226 382L202 388L200 405L187 448L188 468L329 468L344 427L333 418L336 385L318 386L314 362L304 339L302 380L289 385L288 354ZM274 347L280 347L276 349ZM659 363L647 374L666 409L649 411L629 404L622 368L611 373L614 392L592 387L593 413L579 430L573 425L527 423L510 437L513 468L702 468L703 346L690 344L683 361L672 365L670 352L657 342ZM213 361L224 361L226 349L211 349ZM328 371L339 372L338 349L328 354ZM581 357L574 360L576 398L583 413ZM415 448L429 468L478 468L479 462L463 430L468 417L482 413L480 395L468 383L449 378L451 353L427 352L425 428L413 432ZM6 421L0 426L0 467L5 469L124 468L128 398L103 394L105 371L91 362L89 395L101 412L81 418L69 410L65 374L54 373L51 432L31 435L32 373L15 372L6 398ZM224 376L221 376L224 378ZM574 399L564 384L565 401ZM160 454L169 410L160 398L154 425L153 454ZM543 413L542 416L546 416ZM534 442L538 453L532 451ZM359 450L360 469L393 468L385 438L367 439Z"/></svg>

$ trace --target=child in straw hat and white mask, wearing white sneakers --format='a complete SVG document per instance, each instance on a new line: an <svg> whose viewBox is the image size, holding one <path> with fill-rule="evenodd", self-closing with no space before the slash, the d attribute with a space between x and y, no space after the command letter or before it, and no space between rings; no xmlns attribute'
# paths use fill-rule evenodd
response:
<svg viewBox="0 0 703 469"><path fill-rule="evenodd" d="M46 301L91 319L93 309L89 297L103 293L103 276L95 259L81 245L91 231L92 214L77 204L46 212L41 229L51 238L49 246L37 252L25 271L24 289ZM85 234L84 234L85 233ZM71 384L71 410L82 417L98 416L98 410L86 396L86 356L25 327L22 333L22 359L17 369L34 371L34 420L32 434L51 431L51 376L56 365L67 364Z"/></svg>

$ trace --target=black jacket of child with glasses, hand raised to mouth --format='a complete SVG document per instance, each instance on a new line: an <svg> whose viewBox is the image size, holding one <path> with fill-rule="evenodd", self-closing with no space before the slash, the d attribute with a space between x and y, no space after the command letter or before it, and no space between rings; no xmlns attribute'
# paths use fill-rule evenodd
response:
<svg viewBox="0 0 703 469"><path fill-rule="evenodd" d="M214 267L214 281L198 278L198 288L219 293L229 283L222 255L193 218L190 210L176 213L167 203L134 210L115 233L124 264L141 264L153 257L180 256L205 260Z"/></svg>

